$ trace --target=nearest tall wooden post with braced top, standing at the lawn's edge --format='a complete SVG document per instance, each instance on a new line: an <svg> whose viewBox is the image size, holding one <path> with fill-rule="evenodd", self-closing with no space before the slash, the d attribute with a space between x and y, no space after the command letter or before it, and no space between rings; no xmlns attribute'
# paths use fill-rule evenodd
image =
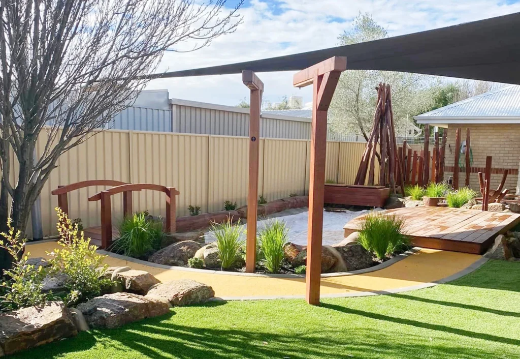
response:
<svg viewBox="0 0 520 359"><path fill-rule="evenodd" d="M307 303L319 305L323 193L327 150L327 112L332 95L346 69L346 57L331 57L294 75L295 87L313 85L313 119L310 135L309 221L307 238ZM249 212L249 211L248 211ZM249 222L249 221L248 221Z"/></svg>

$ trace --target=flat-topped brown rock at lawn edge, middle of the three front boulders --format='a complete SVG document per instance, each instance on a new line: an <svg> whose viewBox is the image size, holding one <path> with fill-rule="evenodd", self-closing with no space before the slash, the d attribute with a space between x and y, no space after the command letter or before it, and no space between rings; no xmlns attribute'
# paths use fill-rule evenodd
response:
<svg viewBox="0 0 520 359"><path fill-rule="evenodd" d="M169 312L166 301L132 293L105 294L77 306L90 328L118 328Z"/></svg>

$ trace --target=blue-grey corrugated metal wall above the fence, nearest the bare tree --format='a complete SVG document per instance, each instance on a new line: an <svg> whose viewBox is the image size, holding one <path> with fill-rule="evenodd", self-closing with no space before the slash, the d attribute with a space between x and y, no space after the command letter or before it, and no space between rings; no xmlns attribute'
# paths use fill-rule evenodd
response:
<svg viewBox="0 0 520 359"><path fill-rule="evenodd" d="M128 107L112 120L114 130L172 132L172 111L145 107Z"/></svg>

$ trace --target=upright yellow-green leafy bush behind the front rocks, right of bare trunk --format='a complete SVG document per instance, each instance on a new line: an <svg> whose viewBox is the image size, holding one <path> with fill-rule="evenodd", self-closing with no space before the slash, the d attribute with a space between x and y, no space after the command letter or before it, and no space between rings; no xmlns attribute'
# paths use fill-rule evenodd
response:
<svg viewBox="0 0 520 359"><path fill-rule="evenodd" d="M77 225L64 214L59 207L58 232L61 249L51 253L50 274L67 276L68 294L62 299L67 305L85 302L101 294L102 289L111 285L110 279L104 278L108 265L103 265L106 256L97 254L97 247L90 245L83 232L78 234Z"/></svg>

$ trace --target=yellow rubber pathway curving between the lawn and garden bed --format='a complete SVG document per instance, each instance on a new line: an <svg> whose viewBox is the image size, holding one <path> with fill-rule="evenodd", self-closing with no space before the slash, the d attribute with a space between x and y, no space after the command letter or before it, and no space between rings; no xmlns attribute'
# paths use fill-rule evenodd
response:
<svg viewBox="0 0 520 359"><path fill-rule="evenodd" d="M30 244L31 257L47 257L56 248L55 242ZM389 267L359 275L321 278L321 294L355 295L361 292L384 292L421 286L450 277L475 264L475 254L421 249ZM224 299L253 299L305 295L304 278L272 278L202 273L151 267L123 259L107 257L110 266L128 266L146 270L161 281L189 278L213 287L215 296Z"/></svg>

